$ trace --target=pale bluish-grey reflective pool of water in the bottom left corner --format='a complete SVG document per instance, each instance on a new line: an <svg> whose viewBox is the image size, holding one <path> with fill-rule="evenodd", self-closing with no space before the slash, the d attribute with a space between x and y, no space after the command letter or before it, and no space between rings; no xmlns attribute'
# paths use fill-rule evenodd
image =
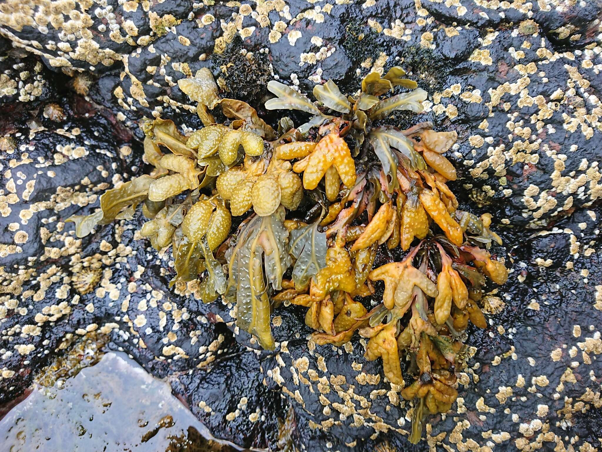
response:
<svg viewBox="0 0 602 452"><path fill-rule="evenodd" d="M36 385L26 401L1 419L5 447L169 451L184 449L188 440L196 450L232 450L204 439L199 432L207 436L206 427L173 397L169 384L141 372L123 353L105 354L62 383Z"/></svg>

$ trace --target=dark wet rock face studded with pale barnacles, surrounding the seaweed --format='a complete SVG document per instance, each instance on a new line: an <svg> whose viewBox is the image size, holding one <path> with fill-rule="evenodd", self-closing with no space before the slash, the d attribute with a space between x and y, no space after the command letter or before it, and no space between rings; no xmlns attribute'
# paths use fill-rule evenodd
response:
<svg viewBox="0 0 602 452"><path fill-rule="evenodd" d="M188 113L196 105L176 86L199 67L209 67L222 89L248 84L238 74L252 74L261 61L258 75L273 71L305 92L329 78L353 92L371 70L400 64L432 105L391 124L430 120L435 130L458 131L452 160L462 177L450 187L461 209L491 212L507 225L497 228L506 247L498 254L513 270L486 297L489 327L468 327L474 356L452 412L426 426L428 444L600 446L597 5L166 1L110 10L82 3L81 15L68 17L61 8L72 6L54 3L52 21L45 11L46 22L34 20L34 5L13 14L10 2L0 16L2 33L19 47L0 63L5 401L72 335L101 330L149 371L170 375L193 412L239 444L408 448L396 432L409 431L399 394L372 377L381 365L365 361L358 336L344 351L312 348L306 309L282 307L272 316L276 351L249 350L250 336L231 333L228 307L170 291L169 253L147 248L131 221L85 239L64 224L91 213L120 178L138 174L141 116L199 128ZM247 72L228 67L220 51L243 55ZM134 224L143 221L136 213ZM291 438L279 435L283 425L293 427Z"/></svg>

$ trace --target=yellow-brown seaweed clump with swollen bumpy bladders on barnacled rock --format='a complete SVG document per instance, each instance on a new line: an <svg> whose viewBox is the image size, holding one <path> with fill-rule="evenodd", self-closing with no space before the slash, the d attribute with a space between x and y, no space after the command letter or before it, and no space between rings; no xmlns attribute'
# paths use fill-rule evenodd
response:
<svg viewBox="0 0 602 452"><path fill-rule="evenodd" d="M382 359L394 385L406 385L401 363L410 357L416 380L402 395L415 400L417 442L426 413L456 400L461 332L469 320L486 327L486 277L503 284L507 271L488 251L501 243L491 216L459 210L447 186L456 170L443 154L457 134L429 122L382 124L396 110L423 111L427 93L403 75L400 67L373 72L356 96L329 80L314 88L318 102L270 81L276 97L266 108L311 115L299 127L284 117L274 130L245 102L220 99L202 69L179 87L198 102L205 127L185 136L172 121L145 124L144 161L154 169L107 190L98 212L70 220L81 237L142 204L141 235L157 250L172 246L172 284L200 275L203 301L234 303L238 327L264 348L275 347L270 313L285 302L308 307L318 345L343 345L356 332L369 339L366 359ZM396 86L411 90L385 98ZM224 124L211 113L217 105ZM231 236L232 216L243 221ZM373 268L379 248L403 259ZM362 299L379 284L382 301L368 312Z"/></svg>

